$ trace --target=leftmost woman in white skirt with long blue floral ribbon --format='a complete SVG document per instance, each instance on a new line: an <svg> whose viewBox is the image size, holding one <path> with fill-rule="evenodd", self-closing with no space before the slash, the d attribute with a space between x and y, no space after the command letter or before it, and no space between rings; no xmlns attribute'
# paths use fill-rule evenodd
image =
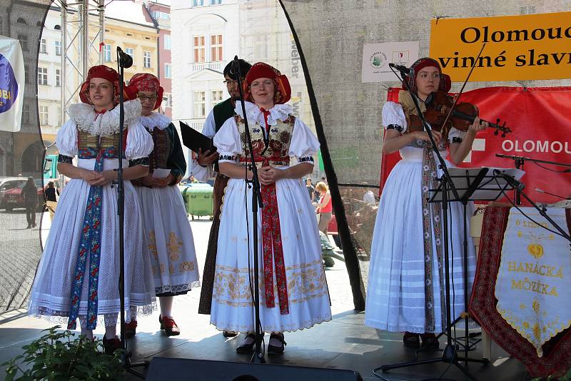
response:
<svg viewBox="0 0 571 381"><path fill-rule="evenodd" d="M107 66L89 69L81 85L84 103L69 106L71 119L56 138L58 169L71 178L61 193L31 292L29 314L66 320L93 337L104 322L106 352L120 347L117 192L118 142L123 140L125 180L125 306L151 313L151 262L144 248L141 207L130 180L148 173L153 140L139 122L141 102L125 91L125 123L119 132L118 73ZM77 156L77 164L72 158ZM65 319L64 319L65 317Z"/></svg>

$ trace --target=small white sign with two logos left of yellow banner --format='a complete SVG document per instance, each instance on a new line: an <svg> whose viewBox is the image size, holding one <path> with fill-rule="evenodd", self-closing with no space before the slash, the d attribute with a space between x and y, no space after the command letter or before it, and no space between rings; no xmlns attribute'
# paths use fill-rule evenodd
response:
<svg viewBox="0 0 571 381"><path fill-rule="evenodd" d="M397 76L388 64L409 67L418 59L419 41L383 42L363 45L363 71L361 81L395 82Z"/></svg>

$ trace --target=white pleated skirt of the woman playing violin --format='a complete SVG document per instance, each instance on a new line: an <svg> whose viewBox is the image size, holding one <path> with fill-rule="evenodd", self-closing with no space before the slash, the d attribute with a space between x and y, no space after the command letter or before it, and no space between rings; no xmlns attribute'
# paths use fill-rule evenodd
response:
<svg viewBox="0 0 571 381"><path fill-rule="evenodd" d="M403 151L401 151L401 155ZM365 325L392 332L441 332L445 326L441 307L440 270L433 237L435 327L426 327L425 254L422 207L422 148L405 148L405 158L388 176L380 198L367 290ZM468 222L473 207L468 207ZM450 203L450 299L453 318L464 311L463 205ZM470 231L468 225L468 232ZM434 227L433 227L434 229ZM444 252L444 248L443 248ZM443 253L444 255L444 253ZM475 274L475 250L468 235L468 292ZM444 274L444 270L443 270ZM443 279L443 284L444 279ZM441 292L442 291L442 292ZM443 300L445 301L445 300Z"/></svg>

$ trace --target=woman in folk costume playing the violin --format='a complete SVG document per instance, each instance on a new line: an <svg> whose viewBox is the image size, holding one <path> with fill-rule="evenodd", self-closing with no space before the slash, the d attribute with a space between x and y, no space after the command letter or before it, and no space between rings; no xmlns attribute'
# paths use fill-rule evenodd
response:
<svg viewBox="0 0 571 381"><path fill-rule="evenodd" d="M434 91L450 91L450 77L437 61L423 58L410 67L405 77L418 96L421 110ZM445 328L445 279L443 226L440 204L428 203L428 190L436 188L438 168L435 153L424 131L408 131L411 115L418 115L408 91L400 91L399 103L383 106L384 153L400 152L402 160L388 176L380 198L373 243L365 324L380 330L405 331L406 346L438 348L434 333ZM433 131L438 149L453 163L461 163L470 152L477 131L485 128L480 119L466 132L451 128L448 137ZM447 162L450 166L450 162ZM450 307L453 318L464 310L463 211L460 203L450 203L450 275L455 295ZM468 279L475 272L475 250L468 243Z"/></svg>

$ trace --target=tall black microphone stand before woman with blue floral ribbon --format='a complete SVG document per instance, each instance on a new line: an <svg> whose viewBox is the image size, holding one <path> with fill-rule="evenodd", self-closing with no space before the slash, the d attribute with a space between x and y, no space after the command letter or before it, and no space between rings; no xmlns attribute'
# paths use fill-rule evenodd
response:
<svg viewBox="0 0 571 381"><path fill-rule="evenodd" d="M145 376L133 370L133 367L148 367L148 362L133 362L131 363L131 352L127 350L127 343L125 341L125 181L123 180L123 125L125 123L125 106L123 98L123 76L124 69L130 67L133 61L129 64L128 60L123 59L121 48L117 47L117 65L119 73L119 142L118 142L118 168L117 180L112 184L117 186L117 215L119 217L119 303L121 308L121 348L123 355L121 362L123 367L132 375L145 379Z"/></svg>

